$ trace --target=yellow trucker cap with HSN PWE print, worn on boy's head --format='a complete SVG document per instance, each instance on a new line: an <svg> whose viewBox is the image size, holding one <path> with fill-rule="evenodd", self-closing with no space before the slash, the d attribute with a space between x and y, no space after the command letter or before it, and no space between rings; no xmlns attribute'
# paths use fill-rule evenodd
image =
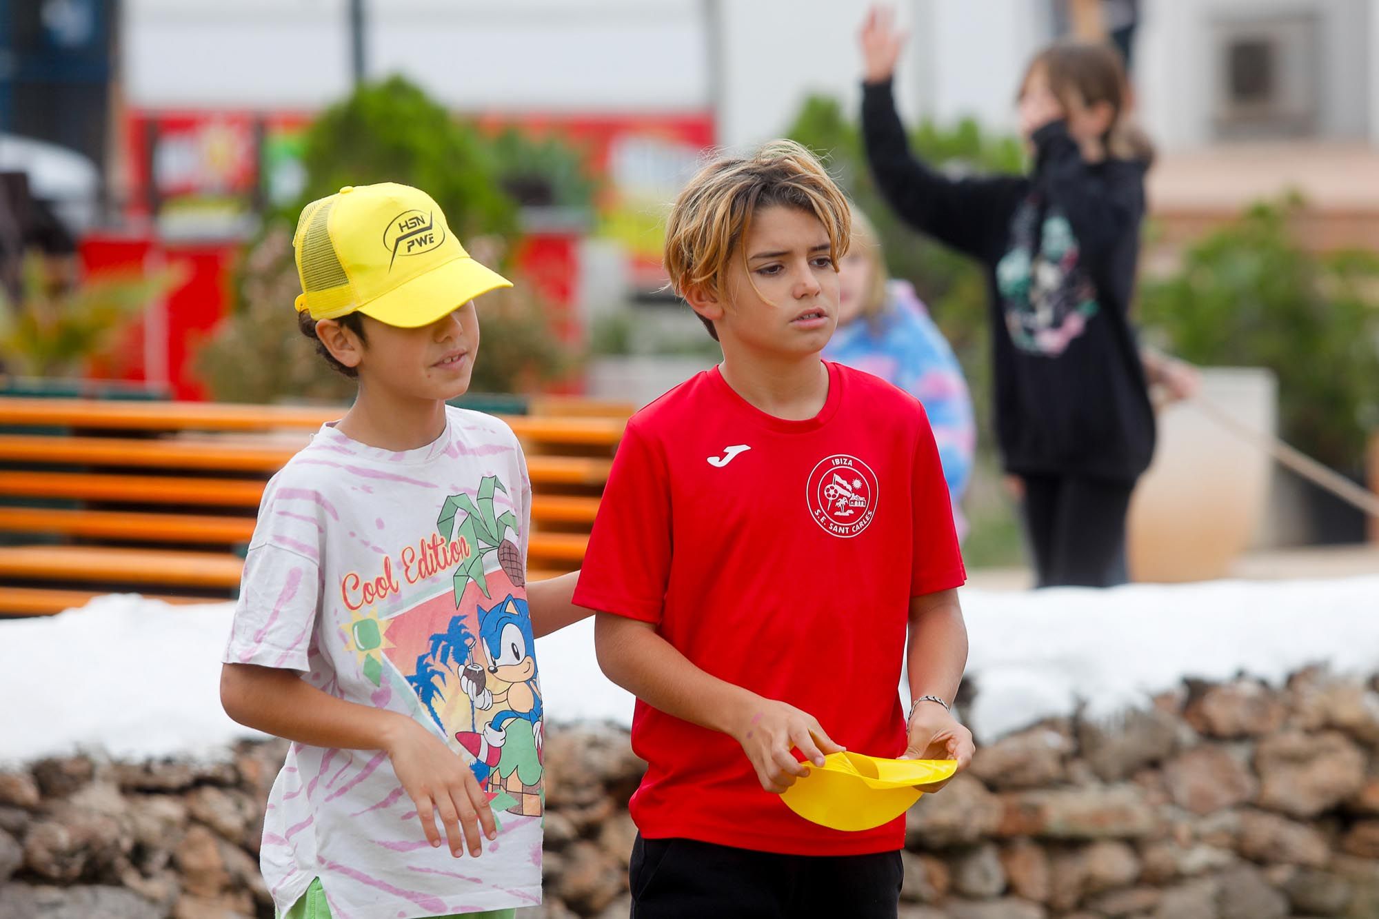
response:
<svg viewBox="0 0 1379 919"><path fill-rule="evenodd" d="M512 281L465 251L430 195L410 185L346 185L302 210L292 236L298 312L429 326Z"/></svg>

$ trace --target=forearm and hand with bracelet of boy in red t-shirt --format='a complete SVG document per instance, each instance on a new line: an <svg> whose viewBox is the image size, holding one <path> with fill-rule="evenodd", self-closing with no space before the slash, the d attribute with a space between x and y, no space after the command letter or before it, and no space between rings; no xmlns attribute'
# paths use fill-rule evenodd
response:
<svg viewBox="0 0 1379 919"><path fill-rule="evenodd" d="M910 638L905 649L910 698L936 695L953 704L967 666L967 625L957 591L924 593L910 600ZM913 706L909 745L902 759L956 759L958 771L972 762L972 731L938 702ZM946 782L929 787L942 788Z"/></svg>

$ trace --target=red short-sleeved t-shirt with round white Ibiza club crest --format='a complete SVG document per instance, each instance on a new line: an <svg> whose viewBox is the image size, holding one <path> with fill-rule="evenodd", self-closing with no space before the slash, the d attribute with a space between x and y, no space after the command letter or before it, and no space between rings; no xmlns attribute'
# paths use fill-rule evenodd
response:
<svg viewBox="0 0 1379 919"><path fill-rule="evenodd" d="M655 622L707 673L814 715L851 751L899 756L910 597L965 580L920 403L829 363L807 421L768 415L707 370L627 422L574 602ZM651 839L793 854L903 844L905 820L841 832L761 788L732 737L637 701Z"/></svg>

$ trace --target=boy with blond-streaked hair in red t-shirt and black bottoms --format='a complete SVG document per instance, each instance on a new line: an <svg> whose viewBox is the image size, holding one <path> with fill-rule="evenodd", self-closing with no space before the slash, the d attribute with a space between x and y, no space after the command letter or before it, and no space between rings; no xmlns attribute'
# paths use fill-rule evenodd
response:
<svg viewBox="0 0 1379 919"><path fill-rule="evenodd" d="M789 141L706 166L670 214L672 284L724 359L627 424L574 597L637 695L637 919L894 918L903 817L841 832L779 793L844 745L972 756L947 711L965 571L924 410L819 357L848 237Z"/></svg>

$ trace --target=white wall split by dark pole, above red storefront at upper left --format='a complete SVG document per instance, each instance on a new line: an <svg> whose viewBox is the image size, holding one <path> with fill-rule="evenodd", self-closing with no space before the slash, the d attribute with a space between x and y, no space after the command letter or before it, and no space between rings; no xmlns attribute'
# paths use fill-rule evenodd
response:
<svg viewBox="0 0 1379 919"><path fill-rule="evenodd" d="M346 0L127 0L137 106L316 108L350 86ZM371 76L465 110L702 110L698 0L368 0Z"/></svg>

